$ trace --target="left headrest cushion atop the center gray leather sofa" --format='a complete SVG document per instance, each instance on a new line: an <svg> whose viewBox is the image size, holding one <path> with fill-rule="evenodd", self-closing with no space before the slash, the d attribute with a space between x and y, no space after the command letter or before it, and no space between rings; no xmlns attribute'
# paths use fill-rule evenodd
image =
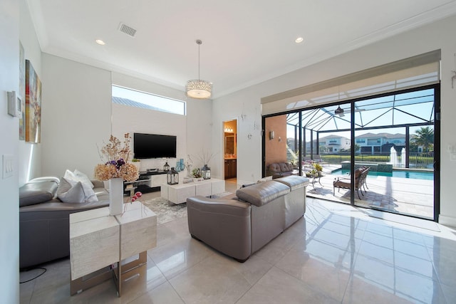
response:
<svg viewBox="0 0 456 304"><path fill-rule="evenodd" d="M290 192L290 188L285 184L274 181L253 184L249 187L237 189L236 196L242 201L247 201L255 206L262 206L273 201L277 197L284 196Z"/></svg>

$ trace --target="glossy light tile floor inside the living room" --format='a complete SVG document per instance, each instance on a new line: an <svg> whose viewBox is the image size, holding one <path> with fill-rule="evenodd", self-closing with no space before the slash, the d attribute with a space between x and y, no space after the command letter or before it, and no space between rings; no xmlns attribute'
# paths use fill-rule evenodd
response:
<svg viewBox="0 0 456 304"><path fill-rule="evenodd" d="M157 227L147 267L121 298L113 281L71 296L63 259L21 284L21 303L455 303L456 231L439 229L308 198L303 219L238 263L192 239L187 218L177 219Z"/></svg>

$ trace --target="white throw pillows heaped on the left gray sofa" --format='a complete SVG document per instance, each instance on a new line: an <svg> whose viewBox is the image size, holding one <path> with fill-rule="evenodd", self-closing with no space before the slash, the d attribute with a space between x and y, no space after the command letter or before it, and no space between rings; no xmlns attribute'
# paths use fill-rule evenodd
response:
<svg viewBox="0 0 456 304"><path fill-rule="evenodd" d="M62 177L58 186L57 197L64 203L91 203L98 201L93 189L82 182L74 182L71 179ZM71 201L72 199L74 200Z"/></svg>

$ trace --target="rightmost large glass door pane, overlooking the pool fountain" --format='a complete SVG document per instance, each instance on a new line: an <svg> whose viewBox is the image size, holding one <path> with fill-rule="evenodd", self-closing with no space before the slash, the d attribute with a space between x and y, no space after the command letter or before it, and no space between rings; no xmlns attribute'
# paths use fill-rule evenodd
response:
<svg viewBox="0 0 456 304"><path fill-rule="evenodd" d="M354 102L355 167L369 167L356 206L434 219L435 99L425 88Z"/></svg>

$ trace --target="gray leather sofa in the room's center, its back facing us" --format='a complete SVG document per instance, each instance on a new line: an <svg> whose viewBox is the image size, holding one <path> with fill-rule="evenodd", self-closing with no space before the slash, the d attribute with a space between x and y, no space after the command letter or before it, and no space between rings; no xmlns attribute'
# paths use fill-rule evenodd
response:
<svg viewBox="0 0 456 304"><path fill-rule="evenodd" d="M304 216L309 179L296 175L238 189L236 196L187 199L194 239L244 262Z"/></svg>

